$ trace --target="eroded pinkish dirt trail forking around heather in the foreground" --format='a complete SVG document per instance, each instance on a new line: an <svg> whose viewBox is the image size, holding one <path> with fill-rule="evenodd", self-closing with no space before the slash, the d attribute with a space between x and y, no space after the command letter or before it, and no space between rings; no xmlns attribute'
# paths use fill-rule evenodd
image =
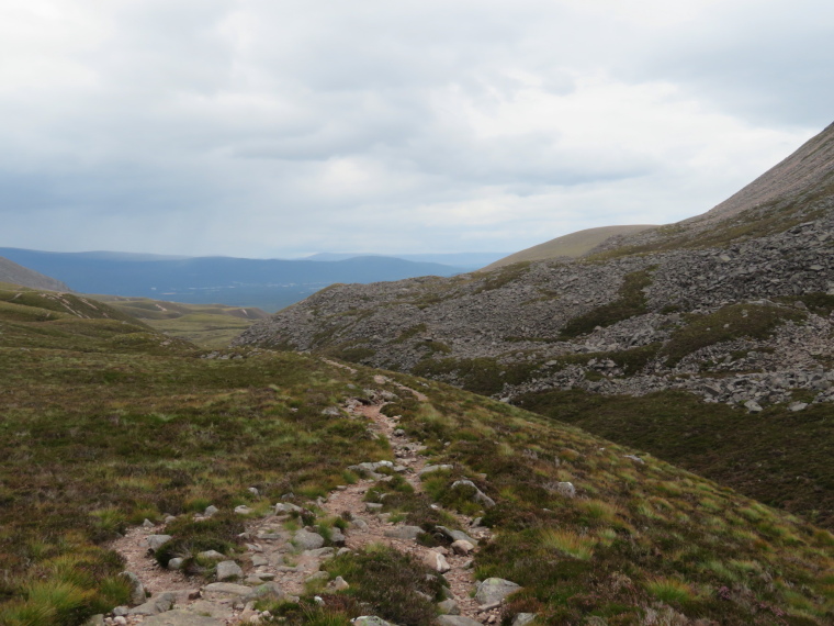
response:
<svg viewBox="0 0 834 626"><path fill-rule="evenodd" d="M352 369L341 364L330 365ZM374 382L381 388L394 387L401 394L414 394L420 402L427 400L418 391L385 377L376 376ZM385 413L386 398L393 398L391 392L375 392L373 398L371 403L367 400L349 401L345 410L352 414L352 418L367 420L372 433L391 443L396 461L387 465L393 466L394 471L415 492L422 493L420 472L427 466L427 459L421 454L425 447L405 436L398 427L398 416ZM375 461L377 459L368 459L371 463ZM245 535L247 551L236 559L241 569L237 577L229 579L234 582L201 584L199 579L188 579L179 571L160 568L148 551L148 537L164 535L165 526L132 528L125 537L113 543L112 548L125 558L127 570L136 574L149 597L139 606L120 607L115 614L104 618L104 624L226 626L262 623L269 615L253 608L256 600L270 595L302 595L308 581L327 578L327 574L320 572L322 564L333 558L339 545L350 550L361 550L371 544L383 544L422 562L431 562L433 569L449 582L454 602L447 601L446 610L482 623L496 622L497 608L478 607L472 597L472 558L477 550L477 540L486 538L488 530L473 528L471 518L454 515L459 526L472 539L472 546L466 546L465 543L460 545L459 541L458 551L443 546L425 547L417 543L415 527L392 524L388 514L379 513L380 505L369 505L365 502L368 491L377 481L386 479L375 472L370 472L370 476L371 478L361 479L354 484L337 488L327 499L309 503L309 506L315 504L323 510L326 516L351 519L343 536L334 541L337 547L324 547L324 539L312 527L292 529L292 525L288 526L294 515L302 511L289 502L277 504L273 513L267 517L248 522Z"/></svg>

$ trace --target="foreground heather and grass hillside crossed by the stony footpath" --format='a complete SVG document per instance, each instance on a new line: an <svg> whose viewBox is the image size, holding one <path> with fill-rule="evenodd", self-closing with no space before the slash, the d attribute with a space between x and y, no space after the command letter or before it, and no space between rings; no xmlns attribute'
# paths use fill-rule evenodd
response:
<svg viewBox="0 0 834 626"><path fill-rule="evenodd" d="M2 624L834 618L830 532L645 450L86 298L2 302Z"/></svg>

